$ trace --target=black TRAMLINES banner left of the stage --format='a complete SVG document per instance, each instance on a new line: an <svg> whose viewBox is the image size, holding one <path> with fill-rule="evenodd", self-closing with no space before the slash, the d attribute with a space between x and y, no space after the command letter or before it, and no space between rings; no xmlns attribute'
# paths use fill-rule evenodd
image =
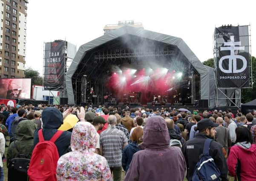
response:
<svg viewBox="0 0 256 181"><path fill-rule="evenodd" d="M65 72L65 41L45 43L43 87L63 90Z"/></svg>

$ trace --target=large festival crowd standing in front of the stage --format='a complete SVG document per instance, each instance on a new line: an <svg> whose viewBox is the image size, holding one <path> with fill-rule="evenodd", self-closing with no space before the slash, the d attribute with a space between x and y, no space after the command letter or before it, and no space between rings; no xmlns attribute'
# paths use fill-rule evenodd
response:
<svg viewBox="0 0 256 181"><path fill-rule="evenodd" d="M58 156L54 169L47 170L54 180L192 181L207 139L207 154L219 170L216 179L228 180L229 174L256 180L256 111L1 105L0 156L9 173L4 175L1 160L0 181L38 179L36 173L50 162L40 144L49 142ZM14 174L15 158L31 159L28 175Z"/></svg>

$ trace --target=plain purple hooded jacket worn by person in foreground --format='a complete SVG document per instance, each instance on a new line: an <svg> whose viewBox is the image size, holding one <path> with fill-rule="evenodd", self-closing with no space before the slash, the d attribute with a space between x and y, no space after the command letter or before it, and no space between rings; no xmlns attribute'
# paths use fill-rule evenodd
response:
<svg viewBox="0 0 256 181"><path fill-rule="evenodd" d="M124 181L183 181L187 172L181 149L170 147L164 118L153 116L143 128L144 150L132 157Z"/></svg>

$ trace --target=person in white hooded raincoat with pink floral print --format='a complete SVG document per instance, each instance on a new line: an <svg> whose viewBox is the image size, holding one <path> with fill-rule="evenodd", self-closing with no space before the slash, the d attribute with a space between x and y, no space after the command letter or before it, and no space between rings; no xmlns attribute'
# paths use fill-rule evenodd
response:
<svg viewBox="0 0 256 181"><path fill-rule="evenodd" d="M95 152L97 132L88 122L78 122L71 136L72 152L58 160L58 181L112 180L109 165L103 156Z"/></svg>

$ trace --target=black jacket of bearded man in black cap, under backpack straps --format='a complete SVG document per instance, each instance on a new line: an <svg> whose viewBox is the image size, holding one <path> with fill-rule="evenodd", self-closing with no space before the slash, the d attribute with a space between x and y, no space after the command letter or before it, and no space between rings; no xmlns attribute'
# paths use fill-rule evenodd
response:
<svg viewBox="0 0 256 181"><path fill-rule="evenodd" d="M193 173L196 167L199 157L203 153L204 141L210 138L205 134L198 133L194 139L190 139L182 146L182 153L187 164L187 180L192 181ZM214 159L216 166L221 172L222 181L228 181L227 179L227 162L222 152L221 145L212 141L210 144L209 155Z"/></svg>

